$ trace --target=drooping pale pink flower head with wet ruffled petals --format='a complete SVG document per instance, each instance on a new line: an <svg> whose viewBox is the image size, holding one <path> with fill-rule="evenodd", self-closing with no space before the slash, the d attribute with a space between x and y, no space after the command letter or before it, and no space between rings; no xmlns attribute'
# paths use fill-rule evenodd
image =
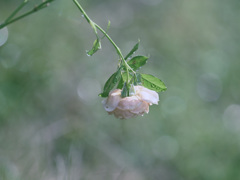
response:
<svg viewBox="0 0 240 180"><path fill-rule="evenodd" d="M112 90L102 101L105 110L116 118L129 119L149 112L149 105L158 104L158 93L143 86L134 86L135 94L121 97L121 89Z"/></svg>

